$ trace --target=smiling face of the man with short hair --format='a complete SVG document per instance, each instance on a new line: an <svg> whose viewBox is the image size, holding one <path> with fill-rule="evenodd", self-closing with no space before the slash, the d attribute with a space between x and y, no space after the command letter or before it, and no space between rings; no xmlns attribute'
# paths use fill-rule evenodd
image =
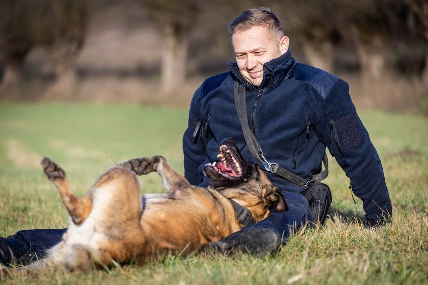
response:
<svg viewBox="0 0 428 285"><path fill-rule="evenodd" d="M263 64L287 51L288 38L273 39L266 27L254 26L233 34L232 45L241 75L254 86L260 86Z"/></svg>

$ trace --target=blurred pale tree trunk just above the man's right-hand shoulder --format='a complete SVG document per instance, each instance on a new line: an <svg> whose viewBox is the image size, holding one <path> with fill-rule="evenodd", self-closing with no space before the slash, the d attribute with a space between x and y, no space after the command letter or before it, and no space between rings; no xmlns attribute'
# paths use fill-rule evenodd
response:
<svg viewBox="0 0 428 285"><path fill-rule="evenodd" d="M305 44L303 49L309 65L330 73L334 72L334 47L331 43L322 43L318 47Z"/></svg>

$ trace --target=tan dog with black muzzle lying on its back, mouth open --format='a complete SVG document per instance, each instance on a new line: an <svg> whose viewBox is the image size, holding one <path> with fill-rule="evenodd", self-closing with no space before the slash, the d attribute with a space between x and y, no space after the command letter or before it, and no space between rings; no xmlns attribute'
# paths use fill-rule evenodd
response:
<svg viewBox="0 0 428 285"><path fill-rule="evenodd" d="M267 218L271 208L288 210L277 187L255 164L245 161L233 140L222 141L220 162L203 172L209 187L192 186L162 156L129 160L102 174L81 198L71 190L65 172L49 158L44 173L59 190L70 224L62 241L46 258L21 268L1 267L2 275L64 266L90 271L130 262L149 262L164 254L202 249L239 231L234 205L248 209L253 222ZM141 194L136 175L157 172L164 194ZM263 242L263 241L261 241Z"/></svg>

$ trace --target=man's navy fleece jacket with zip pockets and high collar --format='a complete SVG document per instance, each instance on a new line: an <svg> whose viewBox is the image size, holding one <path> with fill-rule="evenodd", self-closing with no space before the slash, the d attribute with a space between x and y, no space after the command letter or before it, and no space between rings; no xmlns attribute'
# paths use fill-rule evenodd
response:
<svg viewBox="0 0 428 285"><path fill-rule="evenodd" d="M218 160L226 137L234 139L246 160L264 169L245 144L234 101L234 82L239 80L246 87L250 128L270 162L310 179L321 170L327 147L363 201L366 219L392 217L381 162L345 81L295 62L290 51L264 65L258 87L242 78L236 62L230 70L206 79L192 98L183 136L185 177L191 184L207 185L203 166ZM282 190L307 189L267 174Z"/></svg>

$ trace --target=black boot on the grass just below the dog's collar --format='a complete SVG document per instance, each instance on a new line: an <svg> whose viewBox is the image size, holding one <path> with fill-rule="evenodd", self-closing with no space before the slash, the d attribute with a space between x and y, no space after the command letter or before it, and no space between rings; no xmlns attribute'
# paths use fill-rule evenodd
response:
<svg viewBox="0 0 428 285"><path fill-rule="evenodd" d="M221 239L210 242L204 248L207 253L233 255L243 252L252 255L266 255L276 251L281 245L281 238L270 227L256 226Z"/></svg>

